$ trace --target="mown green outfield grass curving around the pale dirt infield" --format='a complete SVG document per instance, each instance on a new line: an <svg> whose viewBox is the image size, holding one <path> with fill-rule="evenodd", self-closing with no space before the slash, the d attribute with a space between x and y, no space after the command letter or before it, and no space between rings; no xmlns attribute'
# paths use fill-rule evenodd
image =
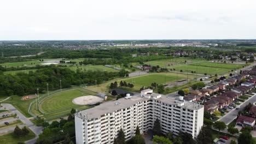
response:
<svg viewBox="0 0 256 144"><path fill-rule="evenodd" d="M42 103L40 103L39 107L45 113L57 112L68 109L69 111L72 107L77 105L72 103L72 100L77 97L81 97L83 95L95 95L96 93L91 91L86 91L82 88L71 89L68 91L63 91L60 93L56 93L43 99Z"/></svg>

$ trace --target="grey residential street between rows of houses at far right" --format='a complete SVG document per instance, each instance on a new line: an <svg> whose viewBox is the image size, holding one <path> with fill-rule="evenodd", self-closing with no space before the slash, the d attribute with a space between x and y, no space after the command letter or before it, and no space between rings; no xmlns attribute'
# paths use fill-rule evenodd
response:
<svg viewBox="0 0 256 144"><path fill-rule="evenodd" d="M256 102L256 93L254 93L254 95L252 97L250 97L249 99L247 99L244 103L240 104L240 109L236 110L233 109L231 110L229 113L227 113L225 116L223 116L222 118L218 119L218 121L222 121L224 122L226 125L228 125L229 123L231 123L238 115L238 112L240 110L243 110L243 108L245 108L246 105L248 105L249 103L255 103Z"/></svg>

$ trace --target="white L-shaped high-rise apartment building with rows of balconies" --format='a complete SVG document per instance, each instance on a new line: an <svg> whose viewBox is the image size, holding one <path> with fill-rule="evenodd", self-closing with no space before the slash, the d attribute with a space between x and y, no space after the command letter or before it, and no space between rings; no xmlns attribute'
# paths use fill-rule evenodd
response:
<svg viewBox="0 0 256 144"><path fill-rule="evenodd" d="M113 143L120 128L126 140L130 140L137 125L144 133L153 128L156 118L164 134L172 131L177 135L183 131L196 137L203 125L203 106L146 89L140 96L109 101L75 113L76 142Z"/></svg>

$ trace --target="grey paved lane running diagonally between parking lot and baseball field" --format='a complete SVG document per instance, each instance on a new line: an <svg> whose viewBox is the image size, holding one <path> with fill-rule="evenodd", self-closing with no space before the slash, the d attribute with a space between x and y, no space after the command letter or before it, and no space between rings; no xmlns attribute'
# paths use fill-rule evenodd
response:
<svg viewBox="0 0 256 144"><path fill-rule="evenodd" d="M3 107L5 107L7 110L10 110L13 113L17 113L17 116L19 117L20 121L24 123L28 128L30 128L34 134L36 134L36 138L32 140L26 141L28 144L33 144L37 141L38 135L42 132L43 127L37 127L34 125L30 119L26 118L20 111L18 111L13 105L11 104L1 104Z"/></svg>

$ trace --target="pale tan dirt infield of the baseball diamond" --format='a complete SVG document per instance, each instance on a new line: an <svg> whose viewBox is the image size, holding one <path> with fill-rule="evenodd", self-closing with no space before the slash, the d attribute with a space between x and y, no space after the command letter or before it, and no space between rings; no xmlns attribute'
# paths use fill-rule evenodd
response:
<svg viewBox="0 0 256 144"><path fill-rule="evenodd" d="M72 100L72 102L76 105L89 105L98 103L100 101L103 101L103 99L94 95L86 95Z"/></svg>

